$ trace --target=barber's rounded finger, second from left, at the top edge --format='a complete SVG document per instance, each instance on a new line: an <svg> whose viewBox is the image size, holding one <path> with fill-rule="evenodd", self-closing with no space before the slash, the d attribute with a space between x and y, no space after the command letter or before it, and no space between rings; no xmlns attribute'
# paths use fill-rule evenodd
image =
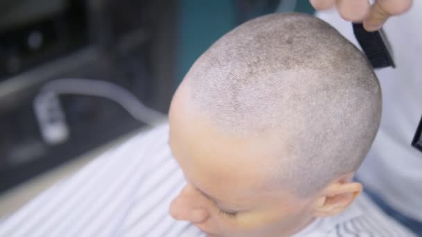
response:
<svg viewBox="0 0 422 237"><path fill-rule="evenodd" d="M337 0L337 9L346 21L362 22L370 8L368 0Z"/></svg>

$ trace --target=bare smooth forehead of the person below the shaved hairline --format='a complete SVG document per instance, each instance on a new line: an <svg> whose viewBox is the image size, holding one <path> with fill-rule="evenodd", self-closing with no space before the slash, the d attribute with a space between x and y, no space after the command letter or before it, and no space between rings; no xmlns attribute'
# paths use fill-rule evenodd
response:
<svg viewBox="0 0 422 237"><path fill-rule="evenodd" d="M169 119L171 149L189 182L228 204L248 205L270 193L280 150L269 141L226 134L179 105Z"/></svg>

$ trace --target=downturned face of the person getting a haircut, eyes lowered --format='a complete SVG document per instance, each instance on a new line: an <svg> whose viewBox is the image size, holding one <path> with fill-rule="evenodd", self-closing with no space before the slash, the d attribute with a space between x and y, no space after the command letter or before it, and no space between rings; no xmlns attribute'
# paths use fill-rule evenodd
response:
<svg viewBox="0 0 422 237"><path fill-rule="evenodd" d="M169 144L187 179L171 203L176 220L230 237L289 236L312 221L312 200L269 185L282 149L269 139L224 134L189 110L174 99L169 114Z"/></svg>

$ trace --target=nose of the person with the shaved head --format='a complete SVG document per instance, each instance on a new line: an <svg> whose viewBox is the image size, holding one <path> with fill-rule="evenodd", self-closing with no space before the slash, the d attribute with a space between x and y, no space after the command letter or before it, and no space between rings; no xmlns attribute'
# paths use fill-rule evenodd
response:
<svg viewBox="0 0 422 237"><path fill-rule="evenodd" d="M186 220L194 224L205 222L210 216L201 205L201 195L191 184L180 191L170 204L170 214L176 220Z"/></svg>

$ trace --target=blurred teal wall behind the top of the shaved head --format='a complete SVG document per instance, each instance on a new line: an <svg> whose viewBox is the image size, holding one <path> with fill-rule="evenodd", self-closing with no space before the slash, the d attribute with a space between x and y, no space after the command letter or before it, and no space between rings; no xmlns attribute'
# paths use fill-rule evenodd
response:
<svg viewBox="0 0 422 237"><path fill-rule="evenodd" d="M292 0L285 0L292 1ZM176 76L180 82L192 64L213 42L237 24L235 1L230 0L179 0L178 49ZM276 10L259 8L248 17L258 17ZM295 11L312 14L309 1L296 0ZM177 83L178 84L178 83Z"/></svg>

